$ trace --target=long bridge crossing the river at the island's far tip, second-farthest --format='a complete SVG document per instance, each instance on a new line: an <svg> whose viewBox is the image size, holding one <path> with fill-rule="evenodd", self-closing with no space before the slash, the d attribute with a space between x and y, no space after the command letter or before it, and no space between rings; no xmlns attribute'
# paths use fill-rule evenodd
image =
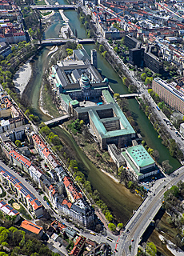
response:
<svg viewBox="0 0 184 256"><path fill-rule="evenodd" d="M83 39L48 38L46 40L42 40L42 46L62 46L69 41L80 43L80 44L94 43L93 38L83 38Z"/></svg>

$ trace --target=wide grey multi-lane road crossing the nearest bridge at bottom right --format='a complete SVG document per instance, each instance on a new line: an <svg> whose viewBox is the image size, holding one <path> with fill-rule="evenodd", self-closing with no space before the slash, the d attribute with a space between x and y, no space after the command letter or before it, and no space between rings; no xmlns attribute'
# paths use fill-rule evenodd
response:
<svg viewBox="0 0 184 256"><path fill-rule="evenodd" d="M125 232L118 240L118 252L116 252L115 255L122 256L123 254L130 254L134 256L137 253L138 243L140 242L143 232L146 230L146 227L149 226L151 220L162 205L163 194L180 180L184 180L184 166L176 170L174 178L167 177L158 181L157 186L152 189L155 196L152 192L136 211L130 222L127 223ZM133 239L134 242L131 242ZM129 250L130 245L132 246L131 252Z"/></svg>

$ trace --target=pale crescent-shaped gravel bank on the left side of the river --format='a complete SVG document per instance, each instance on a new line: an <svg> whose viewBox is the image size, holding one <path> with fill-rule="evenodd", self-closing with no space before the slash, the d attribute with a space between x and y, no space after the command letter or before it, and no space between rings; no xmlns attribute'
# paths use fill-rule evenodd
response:
<svg viewBox="0 0 184 256"><path fill-rule="evenodd" d="M18 69L13 78L14 86L21 95L26 89L32 75L32 68L30 65L31 59L32 57Z"/></svg>

